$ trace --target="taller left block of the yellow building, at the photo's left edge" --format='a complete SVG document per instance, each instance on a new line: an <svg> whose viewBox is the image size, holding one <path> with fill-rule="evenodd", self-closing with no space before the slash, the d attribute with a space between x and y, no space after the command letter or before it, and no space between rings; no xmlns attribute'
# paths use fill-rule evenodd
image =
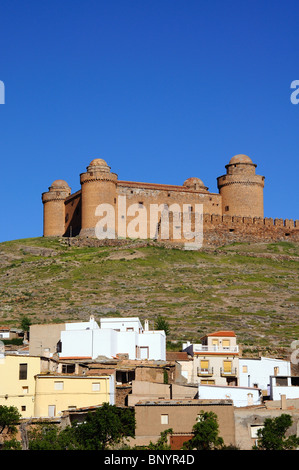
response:
<svg viewBox="0 0 299 470"><path fill-rule="evenodd" d="M15 406L24 418L34 416L34 377L41 371L41 361L37 356L1 357L0 405Z"/></svg>

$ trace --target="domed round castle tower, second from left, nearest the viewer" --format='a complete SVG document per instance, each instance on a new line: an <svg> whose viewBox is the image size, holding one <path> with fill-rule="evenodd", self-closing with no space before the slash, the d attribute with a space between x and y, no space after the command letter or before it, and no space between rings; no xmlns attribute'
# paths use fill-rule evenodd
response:
<svg viewBox="0 0 299 470"><path fill-rule="evenodd" d="M116 182L117 175L111 173L105 160L96 158L87 167L85 173L80 175L82 218L82 237L94 237L95 226L99 221L96 209L100 204L109 204L116 208Z"/></svg>

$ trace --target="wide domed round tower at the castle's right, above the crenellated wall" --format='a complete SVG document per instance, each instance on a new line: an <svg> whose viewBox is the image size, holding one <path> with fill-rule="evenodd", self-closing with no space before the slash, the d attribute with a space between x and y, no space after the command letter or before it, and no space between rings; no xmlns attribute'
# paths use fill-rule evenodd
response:
<svg viewBox="0 0 299 470"><path fill-rule="evenodd" d="M226 175L217 178L222 198L222 214L264 217L264 176L256 175L256 165L247 155L235 155L225 166Z"/></svg>

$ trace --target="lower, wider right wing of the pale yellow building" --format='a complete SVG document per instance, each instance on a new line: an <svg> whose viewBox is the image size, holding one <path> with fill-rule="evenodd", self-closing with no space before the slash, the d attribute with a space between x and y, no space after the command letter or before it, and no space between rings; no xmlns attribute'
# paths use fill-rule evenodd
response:
<svg viewBox="0 0 299 470"><path fill-rule="evenodd" d="M114 404L113 375L38 374L35 379L36 417L57 417L67 410Z"/></svg>

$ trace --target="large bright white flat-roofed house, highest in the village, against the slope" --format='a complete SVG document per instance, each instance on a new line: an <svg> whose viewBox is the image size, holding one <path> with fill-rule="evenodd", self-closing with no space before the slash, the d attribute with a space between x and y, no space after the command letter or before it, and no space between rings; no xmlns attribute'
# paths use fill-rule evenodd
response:
<svg viewBox="0 0 299 470"><path fill-rule="evenodd" d="M60 358L115 358L127 354L129 359L166 360L164 331L148 330L139 318L101 318L100 327L94 317L88 322L66 323L60 333Z"/></svg>

